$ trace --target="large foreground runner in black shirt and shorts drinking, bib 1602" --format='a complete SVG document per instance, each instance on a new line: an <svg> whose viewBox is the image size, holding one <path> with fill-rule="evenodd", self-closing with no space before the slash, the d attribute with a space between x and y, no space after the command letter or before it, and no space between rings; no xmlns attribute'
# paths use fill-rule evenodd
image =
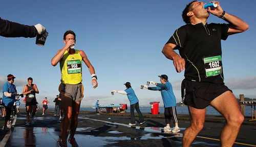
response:
<svg viewBox="0 0 256 147"><path fill-rule="evenodd" d="M188 105L191 125L184 131L183 146L190 146L202 130L208 105L227 120L221 132L221 146L232 146L244 120L236 97L223 83L221 39L244 32L249 26L240 18L225 13L219 2L212 2L218 4L212 10L204 9L202 2L189 3L182 13L187 24L175 31L162 50L166 58L173 60L177 72L185 69L182 97ZM228 24L207 24L210 13ZM179 50L180 55L174 50Z"/></svg>

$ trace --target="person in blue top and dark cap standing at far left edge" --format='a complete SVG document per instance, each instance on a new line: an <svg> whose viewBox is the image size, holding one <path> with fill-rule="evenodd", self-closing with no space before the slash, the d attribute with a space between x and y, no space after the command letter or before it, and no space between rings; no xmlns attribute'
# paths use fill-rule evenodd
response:
<svg viewBox="0 0 256 147"><path fill-rule="evenodd" d="M12 106L15 102L17 90L16 86L13 84L15 77L11 74L7 76L7 82L3 86L3 103L6 110L5 116L5 125L4 130L11 129L12 125L10 122L11 113L12 113Z"/></svg>

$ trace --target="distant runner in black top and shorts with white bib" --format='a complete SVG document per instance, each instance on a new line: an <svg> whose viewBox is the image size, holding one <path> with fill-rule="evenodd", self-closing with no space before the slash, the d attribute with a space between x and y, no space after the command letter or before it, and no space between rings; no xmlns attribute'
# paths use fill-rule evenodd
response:
<svg viewBox="0 0 256 147"><path fill-rule="evenodd" d="M35 93L39 93L36 84L33 84L33 79L28 78L28 84L23 87L23 94L26 95L26 112L27 112L27 122L26 126L34 124L34 116L36 112L36 97ZM31 116L30 116L31 115Z"/></svg>

